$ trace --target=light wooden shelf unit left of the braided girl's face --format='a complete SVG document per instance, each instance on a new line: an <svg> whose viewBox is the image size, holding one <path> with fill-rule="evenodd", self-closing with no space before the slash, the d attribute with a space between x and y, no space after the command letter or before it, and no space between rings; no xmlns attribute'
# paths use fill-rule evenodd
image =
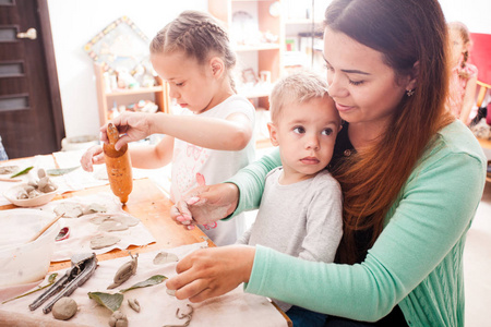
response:
<svg viewBox="0 0 491 327"><path fill-rule="evenodd" d="M169 112L168 85L158 76L155 77L157 85L153 87L139 87L128 89L107 89L104 82L104 69L99 64L94 64L97 87L97 102L99 106L99 123L104 125L109 118L109 104L118 101L118 104L132 104L135 97L140 99L148 99L154 96L154 101L158 106L158 111ZM132 100L131 100L132 99Z"/></svg>

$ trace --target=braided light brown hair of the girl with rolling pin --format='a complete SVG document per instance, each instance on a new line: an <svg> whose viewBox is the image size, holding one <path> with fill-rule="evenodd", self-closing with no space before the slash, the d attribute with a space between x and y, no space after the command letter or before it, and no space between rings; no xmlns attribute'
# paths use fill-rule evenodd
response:
<svg viewBox="0 0 491 327"><path fill-rule="evenodd" d="M187 10L167 24L149 45L151 53L182 51L204 64L212 56L221 58L235 89L231 70L236 65L236 53L231 50L225 28L208 13Z"/></svg>

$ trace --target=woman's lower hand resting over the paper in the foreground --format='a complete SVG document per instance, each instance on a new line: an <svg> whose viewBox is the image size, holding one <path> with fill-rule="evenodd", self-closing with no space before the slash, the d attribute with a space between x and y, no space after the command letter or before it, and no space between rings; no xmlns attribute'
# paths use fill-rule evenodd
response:
<svg viewBox="0 0 491 327"><path fill-rule="evenodd" d="M246 245L194 251L178 263L178 275L167 280L166 286L176 290L177 299L191 302L225 294L249 281L254 255L255 247Z"/></svg>

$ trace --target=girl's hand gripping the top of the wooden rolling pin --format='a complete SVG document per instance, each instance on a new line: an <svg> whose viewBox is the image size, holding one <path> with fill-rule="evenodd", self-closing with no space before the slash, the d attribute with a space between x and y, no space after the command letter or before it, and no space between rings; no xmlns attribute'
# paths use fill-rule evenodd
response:
<svg viewBox="0 0 491 327"><path fill-rule="evenodd" d="M152 134L153 119L151 113L123 112L110 122L118 129L118 132L121 135L115 145L117 150L130 142L145 138ZM105 143L108 142L108 123L100 128L100 141Z"/></svg>

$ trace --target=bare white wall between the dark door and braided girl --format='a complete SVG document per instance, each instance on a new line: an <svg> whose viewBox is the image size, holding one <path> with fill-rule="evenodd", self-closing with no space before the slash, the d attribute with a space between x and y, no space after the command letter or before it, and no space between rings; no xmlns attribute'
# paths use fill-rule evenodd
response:
<svg viewBox="0 0 491 327"><path fill-rule="evenodd" d="M93 61L83 46L127 15L152 39L187 9L207 9L203 0L48 0L68 137L98 135L99 117Z"/></svg>

